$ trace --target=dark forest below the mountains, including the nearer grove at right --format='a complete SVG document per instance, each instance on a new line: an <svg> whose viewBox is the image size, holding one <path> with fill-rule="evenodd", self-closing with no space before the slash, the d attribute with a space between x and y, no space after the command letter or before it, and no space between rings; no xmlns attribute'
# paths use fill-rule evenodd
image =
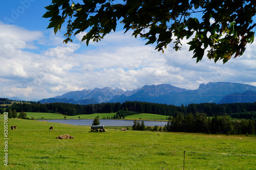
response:
<svg viewBox="0 0 256 170"><path fill-rule="evenodd" d="M152 113L166 115L166 117L168 117L169 122L165 127L166 131L212 134L256 134L256 102L233 104L201 103L186 106L137 101L126 101L122 104L101 103L91 105L17 102L9 106L0 106L1 114L5 111L13 111L13 113L48 112L70 116L116 112L114 118L124 118L131 114ZM17 114L15 114L15 116L17 116ZM15 116L10 115L10 117L14 118ZM236 121L232 119L236 119ZM239 121L237 119L239 119Z"/></svg>

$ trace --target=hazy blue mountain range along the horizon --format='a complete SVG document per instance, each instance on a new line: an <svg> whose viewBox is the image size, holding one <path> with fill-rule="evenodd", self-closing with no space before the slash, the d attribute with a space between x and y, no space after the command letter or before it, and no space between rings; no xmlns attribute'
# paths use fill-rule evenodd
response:
<svg viewBox="0 0 256 170"><path fill-rule="evenodd" d="M43 99L40 103L123 103L125 101L151 102L180 106L190 103L239 103L255 102L256 87L230 82L209 82L200 84L196 90L187 90L169 84L145 85L135 90L112 89L110 87L93 90L71 91L54 98Z"/></svg>

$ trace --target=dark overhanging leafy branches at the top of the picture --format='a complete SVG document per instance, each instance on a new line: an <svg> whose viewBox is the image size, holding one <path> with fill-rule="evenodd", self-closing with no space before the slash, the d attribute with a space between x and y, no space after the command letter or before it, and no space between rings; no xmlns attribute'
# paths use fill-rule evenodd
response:
<svg viewBox="0 0 256 170"><path fill-rule="evenodd" d="M242 55L246 44L253 42L255 6L255 1L246 0L124 0L122 4L117 0L83 0L83 4L52 0L43 17L50 18L48 28L54 28L55 34L67 21L66 43L72 42L72 35L84 31L87 34L81 40L87 45L91 39L98 42L115 32L120 21L125 33L133 30L136 38L147 40L146 44L156 43L158 51L163 52L172 41L178 51L181 40L190 38L189 51L194 51L197 62L207 51L209 59L225 63L231 56Z"/></svg>

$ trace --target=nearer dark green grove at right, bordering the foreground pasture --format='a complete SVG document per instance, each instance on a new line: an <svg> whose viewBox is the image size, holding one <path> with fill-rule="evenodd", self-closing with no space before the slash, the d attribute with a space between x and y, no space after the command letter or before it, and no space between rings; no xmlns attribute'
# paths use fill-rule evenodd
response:
<svg viewBox="0 0 256 170"><path fill-rule="evenodd" d="M208 134L256 134L256 120L243 119L233 121L227 116L208 117L206 114L184 115L179 113L169 119L166 127L168 132L196 132Z"/></svg>

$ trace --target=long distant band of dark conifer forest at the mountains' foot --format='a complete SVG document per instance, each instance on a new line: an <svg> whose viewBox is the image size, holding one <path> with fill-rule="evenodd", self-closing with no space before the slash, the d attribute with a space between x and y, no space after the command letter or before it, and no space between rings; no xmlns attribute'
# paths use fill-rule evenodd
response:
<svg viewBox="0 0 256 170"><path fill-rule="evenodd" d="M1 101L1 99L0 99ZM61 113L64 115L78 114L93 114L93 113L112 113L118 112L124 116L137 113L152 113L166 116L177 116L178 113L184 115L191 113L205 113L206 116L228 115L233 118L256 118L256 102L254 103L232 103L232 104L216 104L216 103L201 103L189 105L166 105L147 102L124 102L124 103L101 103L91 105L78 105L68 103L27 103L17 102L10 106L0 106L1 113L4 111L16 110L17 112L46 112L46 113ZM125 112L123 112L125 111ZM129 111L129 114L127 114ZM133 113L131 113L133 112ZM125 113L125 114L124 114ZM123 117L120 115L120 117Z"/></svg>

